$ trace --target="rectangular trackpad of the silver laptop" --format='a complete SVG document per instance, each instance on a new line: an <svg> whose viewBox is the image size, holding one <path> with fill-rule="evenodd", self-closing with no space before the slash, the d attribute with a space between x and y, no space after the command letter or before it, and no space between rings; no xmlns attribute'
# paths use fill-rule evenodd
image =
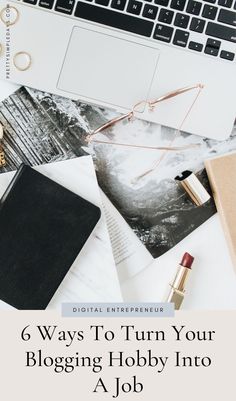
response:
<svg viewBox="0 0 236 401"><path fill-rule="evenodd" d="M152 47L75 27L58 89L130 109L148 98L158 57Z"/></svg>

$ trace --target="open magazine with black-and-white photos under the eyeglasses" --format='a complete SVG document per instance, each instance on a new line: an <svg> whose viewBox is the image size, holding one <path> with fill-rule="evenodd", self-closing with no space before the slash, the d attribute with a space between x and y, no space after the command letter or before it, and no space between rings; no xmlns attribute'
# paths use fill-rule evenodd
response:
<svg viewBox="0 0 236 401"><path fill-rule="evenodd" d="M88 134L114 117L114 111L20 88L0 105L7 166L39 165L92 154L120 279L147 267L215 212L190 201L174 177L188 169L207 186L203 160L236 149L236 132L224 142L196 137L135 120L100 134L106 141L149 146L199 144L164 155L157 150L88 144ZM148 154L147 154L148 152ZM161 159L162 158L162 159ZM132 229L132 230L131 230Z"/></svg>

